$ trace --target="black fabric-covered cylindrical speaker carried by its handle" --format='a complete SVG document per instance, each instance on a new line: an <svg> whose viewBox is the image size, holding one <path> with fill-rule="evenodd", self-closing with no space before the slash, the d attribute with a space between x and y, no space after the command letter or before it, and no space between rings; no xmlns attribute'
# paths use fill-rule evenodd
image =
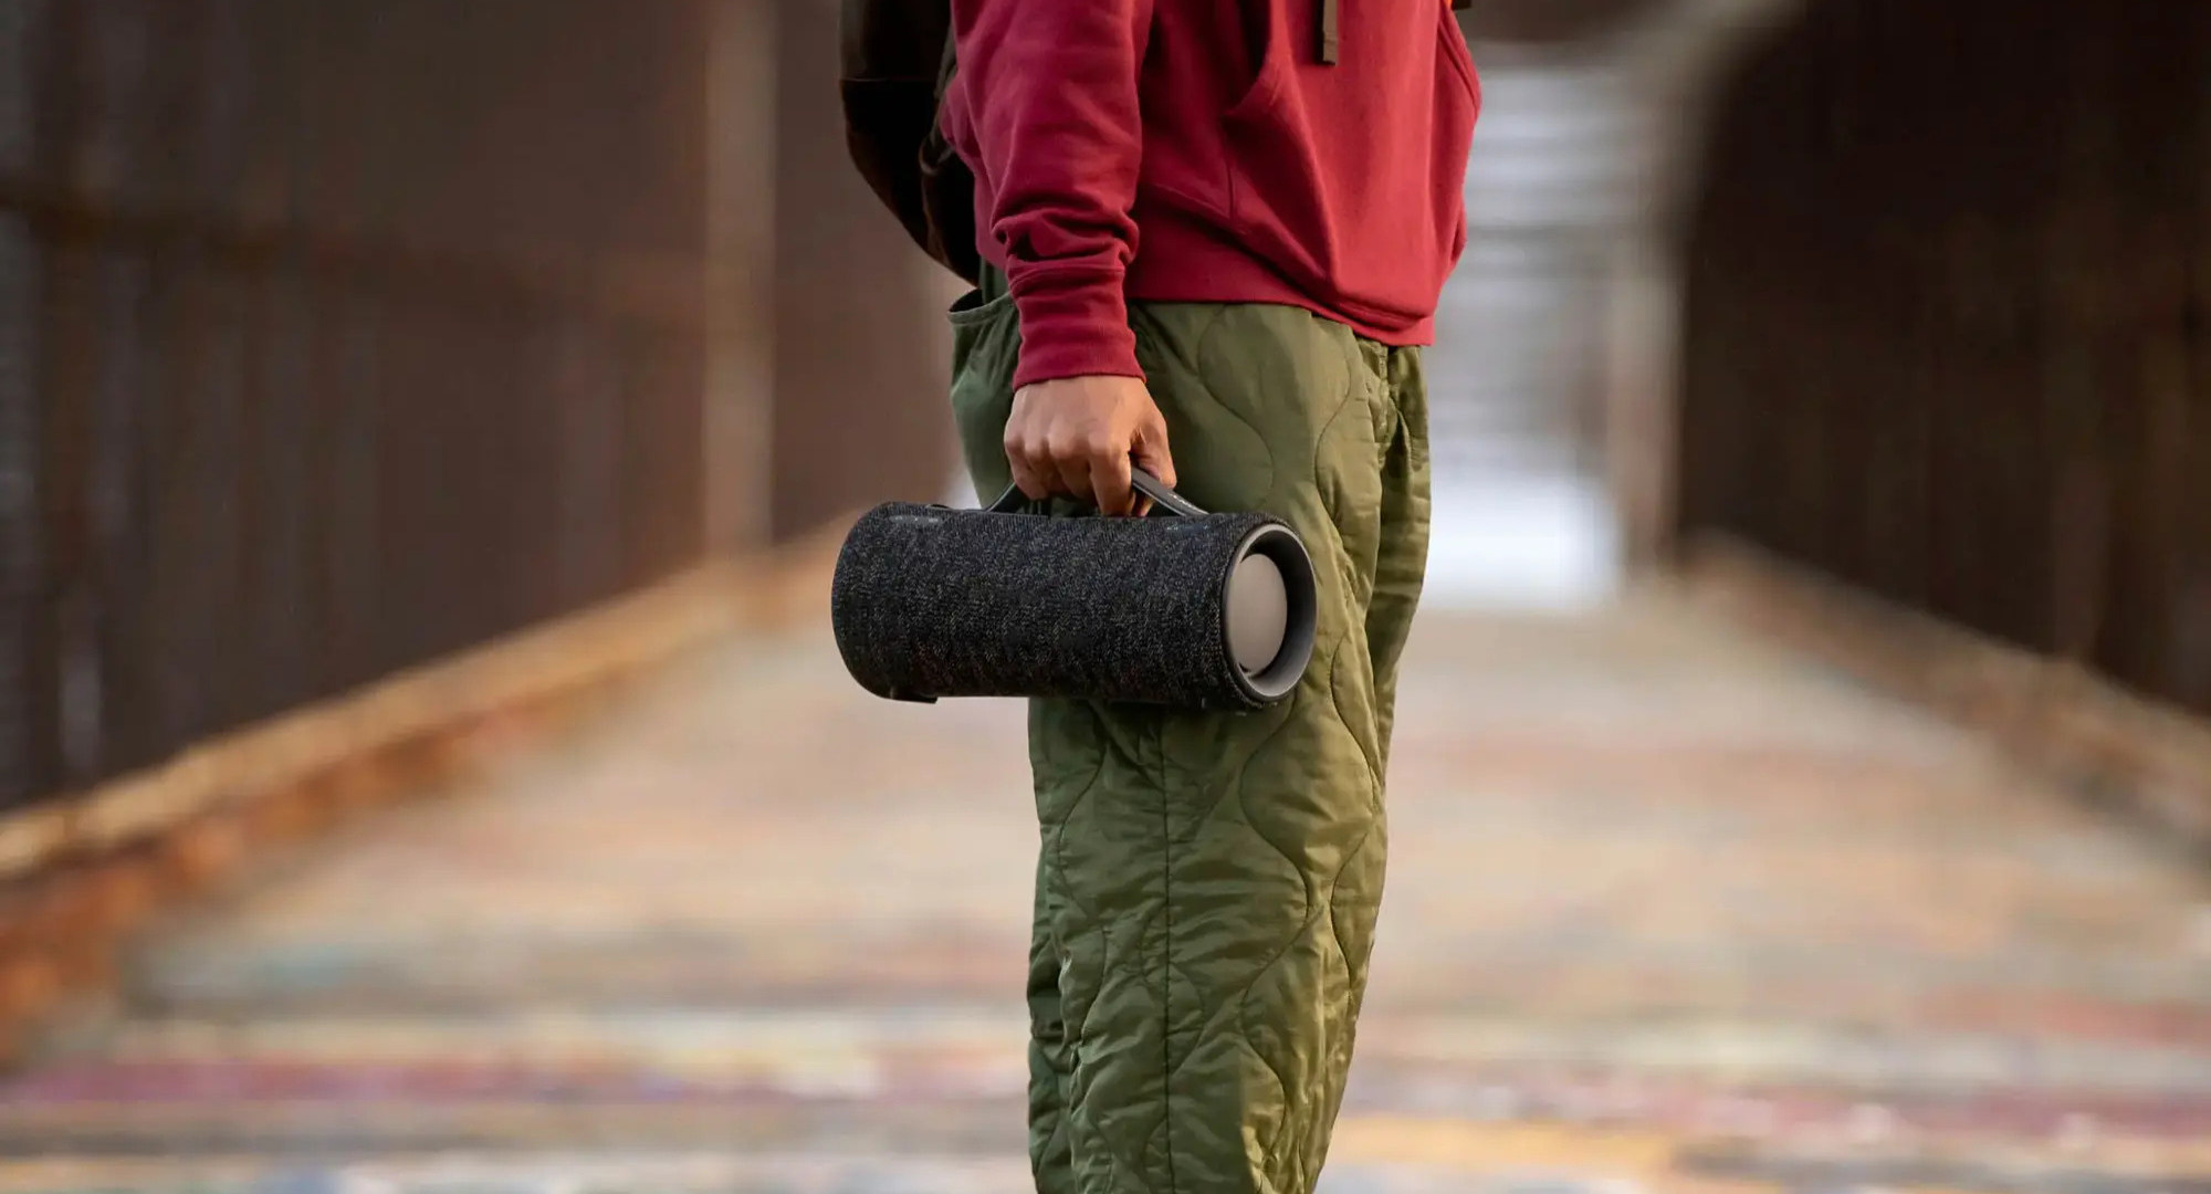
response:
<svg viewBox="0 0 2211 1194"><path fill-rule="evenodd" d="M1205 513L1139 473L1154 513L876 506L838 555L845 668L895 701L1075 696L1262 710L1313 657L1313 562L1282 520Z"/></svg>

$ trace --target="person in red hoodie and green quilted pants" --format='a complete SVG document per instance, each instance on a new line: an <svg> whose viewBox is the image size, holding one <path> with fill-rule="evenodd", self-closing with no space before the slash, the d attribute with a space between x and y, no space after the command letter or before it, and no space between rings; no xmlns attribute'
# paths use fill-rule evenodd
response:
<svg viewBox="0 0 2211 1194"><path fill-rule="evenodd" d="M1448 0L953 0L940 130L982 283L951 400L977 493L1262 509L1320 630L1260 714L1030 705L1044 1194L1309 1192L1382 902L1428 542L1419 345L1481 91Z"/></svg>

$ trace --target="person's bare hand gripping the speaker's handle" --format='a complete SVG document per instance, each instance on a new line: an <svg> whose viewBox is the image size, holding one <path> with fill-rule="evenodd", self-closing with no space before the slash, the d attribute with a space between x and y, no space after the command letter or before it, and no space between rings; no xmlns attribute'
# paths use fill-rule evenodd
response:
<svg viewBox="0 0 2211 1194"><path fill-rule="evenodd" d="M1110 515L1143 513L1130 467L1174 484L1167 420L1139 378L1088 376L1024 385L1006 420L1013 484L1033 500L1097 502Z"/></svg>

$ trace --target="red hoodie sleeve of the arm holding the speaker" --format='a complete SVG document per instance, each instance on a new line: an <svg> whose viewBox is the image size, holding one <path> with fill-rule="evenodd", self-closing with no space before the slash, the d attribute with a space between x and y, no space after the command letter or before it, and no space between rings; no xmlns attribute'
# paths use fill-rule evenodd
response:
<svg viewBox="0 0 2211 1194"><path fill-rule="evenodd" d="M1141 378L1121 281L1136 256L1136 75L1154 0L953 0L984 234L1021 314L1015 385Z"/></svg>

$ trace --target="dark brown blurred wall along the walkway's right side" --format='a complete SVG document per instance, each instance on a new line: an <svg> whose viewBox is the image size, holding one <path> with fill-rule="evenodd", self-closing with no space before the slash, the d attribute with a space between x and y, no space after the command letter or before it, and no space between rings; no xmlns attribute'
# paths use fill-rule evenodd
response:
<svg viewBox="0 0 2211 1194"><path fill-rule="evenodd" d="M1725 82L1678 531L2211 710L2211 9L1826 0Z"/></svg>

